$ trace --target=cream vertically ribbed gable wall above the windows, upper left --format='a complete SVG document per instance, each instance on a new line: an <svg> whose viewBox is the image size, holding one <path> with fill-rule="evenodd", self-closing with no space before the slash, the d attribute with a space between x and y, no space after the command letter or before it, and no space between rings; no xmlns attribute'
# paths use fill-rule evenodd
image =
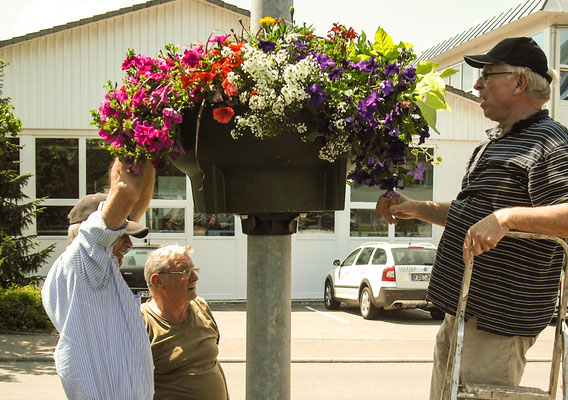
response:
<svg viewBox="0 0 568 400"><path fill-rule="evenodd" d="M129 48L154 56L167 43L206 43L212 32L240 32L249 18L200 0L178 0L0 48L4 95L26 129L76 136L89 129L108 80L120 82ZM55 132L54 132L55 131Z"/></svg>

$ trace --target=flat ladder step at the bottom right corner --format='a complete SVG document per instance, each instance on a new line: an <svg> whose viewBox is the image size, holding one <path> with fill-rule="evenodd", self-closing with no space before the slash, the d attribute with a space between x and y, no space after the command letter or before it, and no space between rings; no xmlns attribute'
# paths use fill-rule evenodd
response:
<svg viewBox="0 0 568 400"><path fill-rule="evenodd" d="M535 387L467 383L463 384L462 391L458 391L458 399L553 400L549 392Z"/></svg>

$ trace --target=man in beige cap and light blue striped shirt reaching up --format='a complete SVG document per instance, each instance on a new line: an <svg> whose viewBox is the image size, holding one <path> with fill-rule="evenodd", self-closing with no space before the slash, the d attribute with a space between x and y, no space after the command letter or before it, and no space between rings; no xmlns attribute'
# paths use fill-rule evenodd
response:
<svg viewBox="0 0 568 400"><path fill-rule="evenodd" d="M89 195L69 213L70 244L42 289L43 306L59 331L54 358L70 399L152 399L153 363L140 300L118 270L132 242L148 228L154 169L140 175L116 160L108 195Z"/></svg>

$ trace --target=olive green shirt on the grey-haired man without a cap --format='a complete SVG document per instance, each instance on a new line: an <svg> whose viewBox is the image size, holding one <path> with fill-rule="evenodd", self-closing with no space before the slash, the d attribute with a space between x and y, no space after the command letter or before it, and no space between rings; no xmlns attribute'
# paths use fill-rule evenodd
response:
<svg viewBox="0 0 568 400"><path fill-rule="evenodd" d="M140 307L154 358L154 399L226 400L217 363L219 329L203 298L189 307L181 324L166 321L149 303Z"/></svg>

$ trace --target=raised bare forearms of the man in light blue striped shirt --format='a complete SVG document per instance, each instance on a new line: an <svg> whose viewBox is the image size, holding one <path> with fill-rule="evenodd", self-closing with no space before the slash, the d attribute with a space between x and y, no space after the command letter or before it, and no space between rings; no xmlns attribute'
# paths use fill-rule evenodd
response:
<svg viewBox="0 0 568 400"><path fill-rule="evenodd" d="M110 191L102 210L109 229L119 229L128 217L138 222L148 209L154 186L154 168L144 161L140 170L140 175L134 174L126 164L118 159L114 161L110 172Z"/></svg>

